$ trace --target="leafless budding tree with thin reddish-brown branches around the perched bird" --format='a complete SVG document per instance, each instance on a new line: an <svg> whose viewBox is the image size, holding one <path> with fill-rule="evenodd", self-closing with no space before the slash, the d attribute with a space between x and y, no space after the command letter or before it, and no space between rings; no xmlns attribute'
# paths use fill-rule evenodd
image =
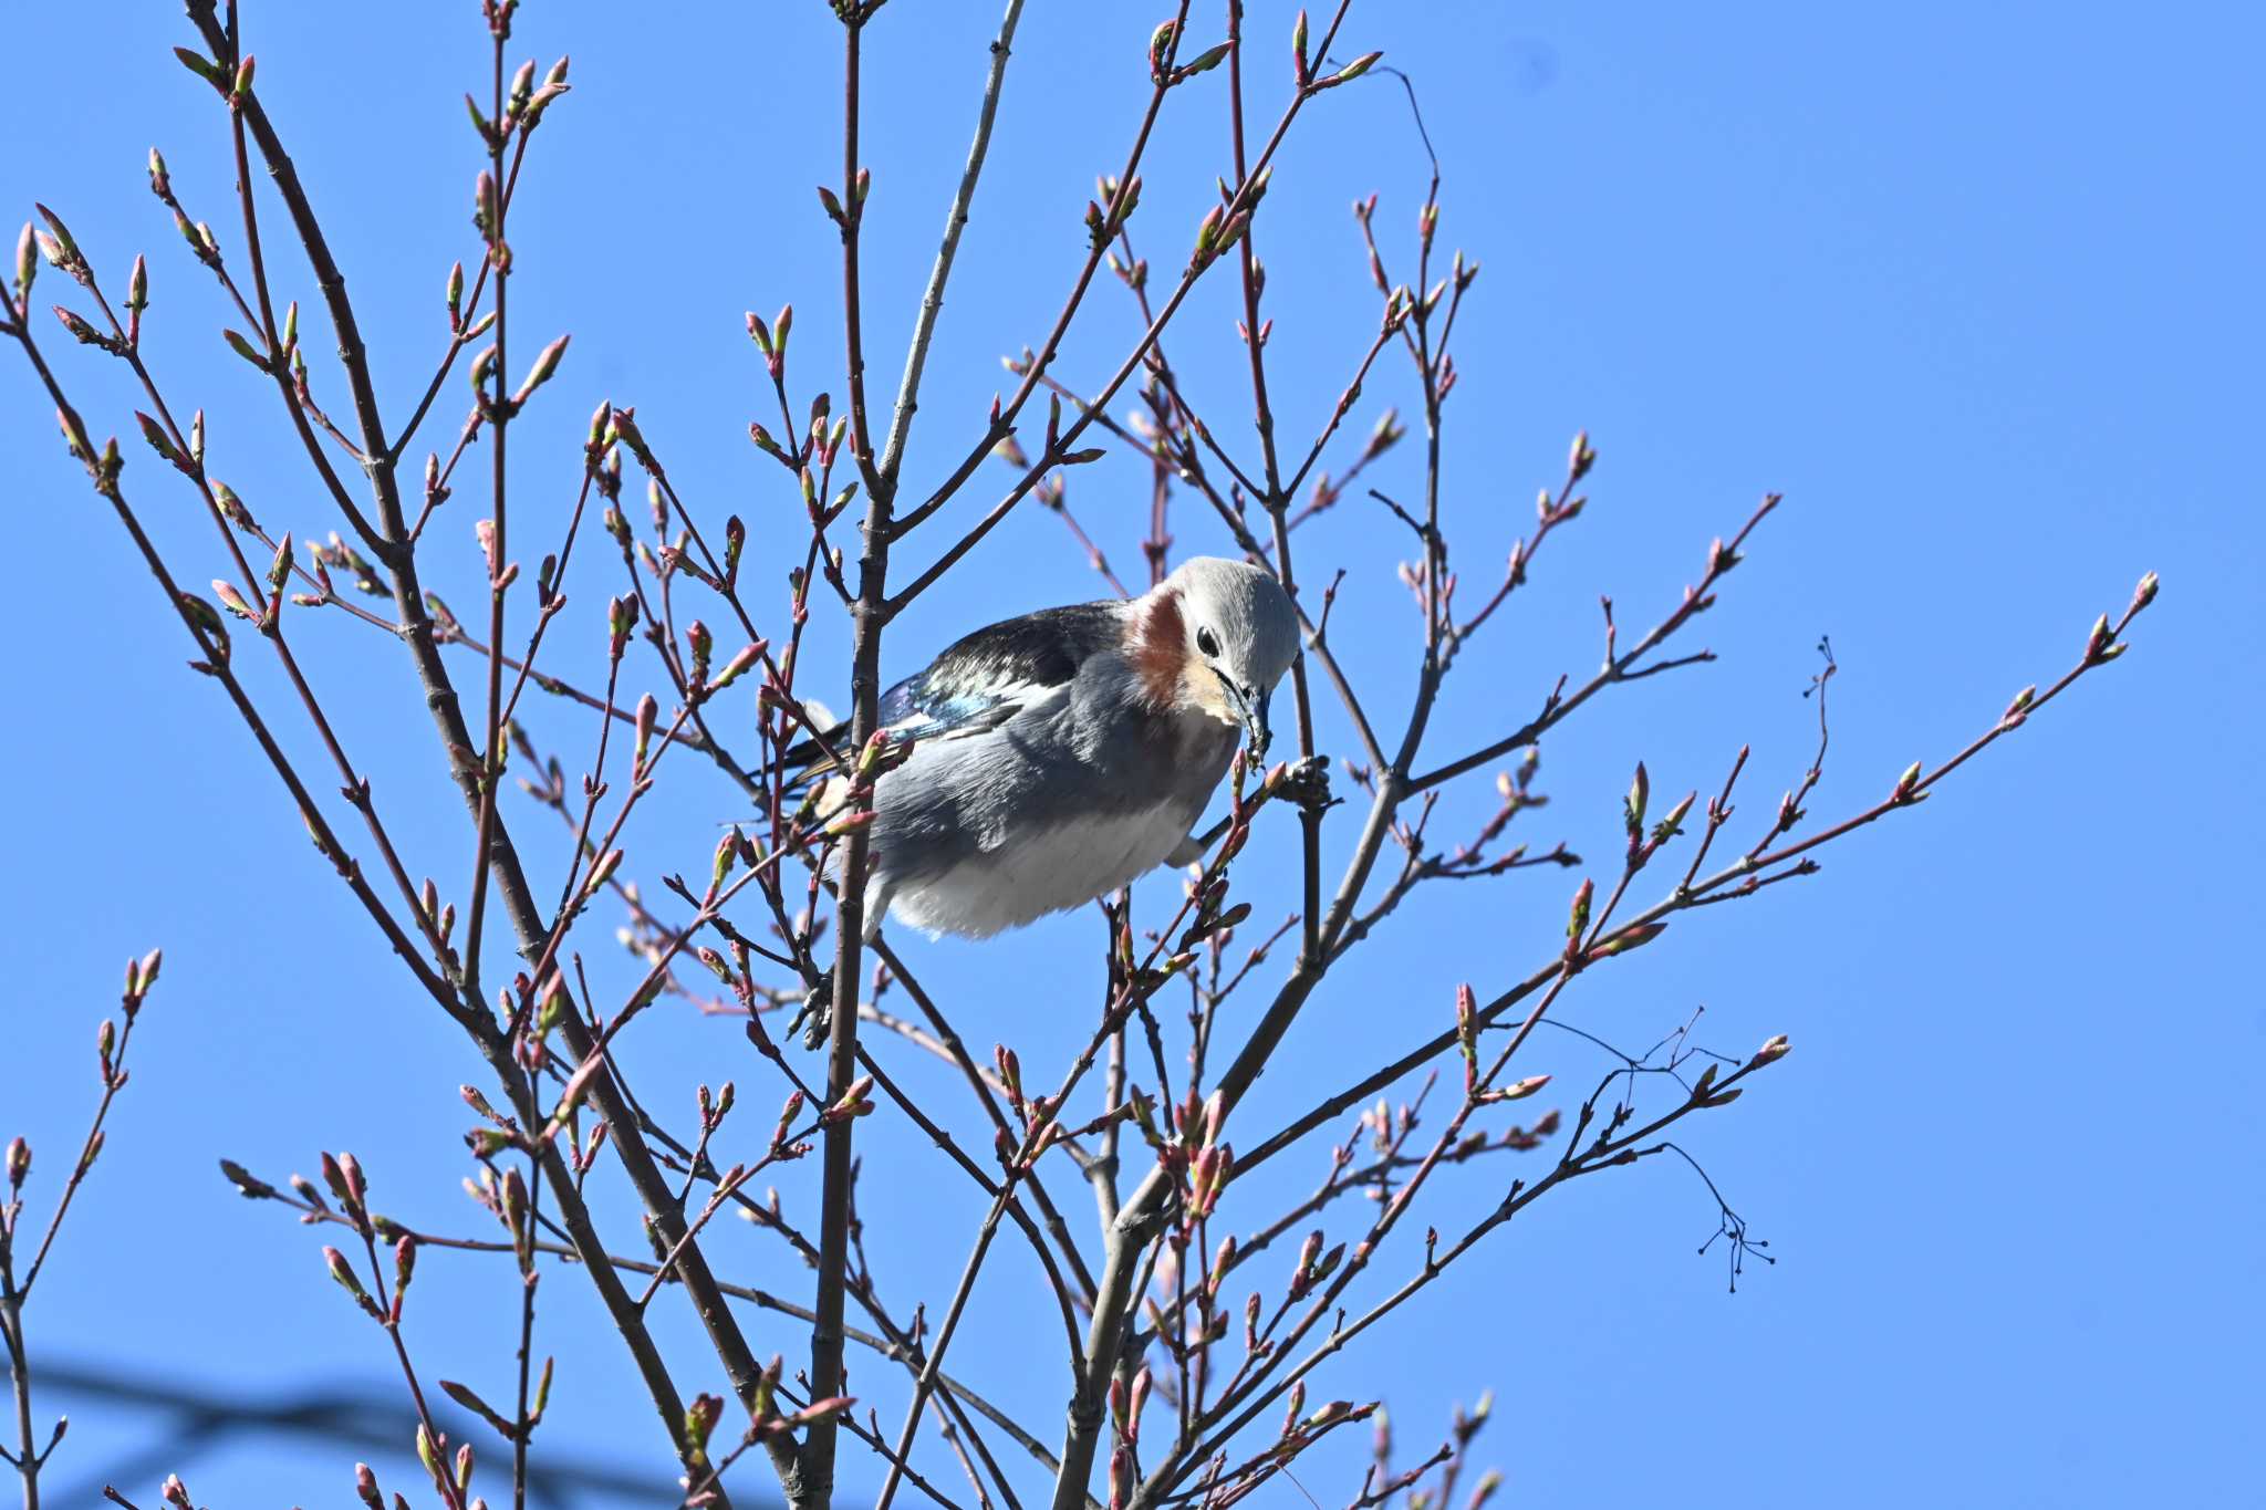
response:
<svg viewBox="0 0 2266 1510"><path fill-rule="evenodd" d="M1545 546L1586 523L1598 451L1573 439L1507 561L1475 564L1459 548L1471 512L1448 469L1457 317L1484 285L1480 263L1439 238L1437 170L1412 224L1380 215L1375 195L1357 199L1348 267L1366 263L1366 278L1355 272L1341 290L1339 310L1355 312L1330 315L1353 328L1339 396L1317 414L1276 412L1260 249L1305 254L1269 229L1280 147L1339 109L1346 86L1389 75L1351 0L1301 11L1287 38L1246 32L1242 0L1203 14L1181 0L1147 57L1126 59L1147 72L1147 106L1124 122L1122 158L1092 188L1058 312L1029 344L1002 333L1008 385L988 410L936 392L931 340L963 226L983 204L1002 100L1015 91L1022 9L1008 0L988 54L970 59L965 170L943 206L902 376L875 385L861 265L884 174L861 154L861 68L868 48L891 45L895 14L884 0L834 0L838 174L818 186L816 206L780 213L823 215L838 235L843 317L838 328L798 326L795 306L775 303L793 290L764 290L777 312L746 317L757 394L746 466L761 514L680 489L678 457L650 423L666 401L596 392L576 374L569 337L523 328L512 308L519 267L544 256L539 240L514 238L512 213L521 188L553 170L542 127L560 111L605 109L571 93L564 59L517 61L517 0L480 5L487 68L467 95L465 138L471 233L437 278L437 312L349 297L324 192L295 165L292 122L263 102L256 27L233 2L188 0L177 50L211 122L193 179L233 174L233 204L193 199L152 152L150 190L181 244L152 254L156 272L134 256L122 283L109 267L122 251L79 244L68 204L39 206L23 233L0 335L52 398L63 444L118 518L120 548L177 616L193 672L242 724L242 758L306 822L315 856L295 865L326 869L367 917L365 955L397 973L399 1010L440 1012L462 1032L462 1064L387 1073L471 1080L469 1213L442 1204L465 1170L365 1170L324 1150L304 1150L320 1179L222 1164L242 1195L331 1238L310 1243L308 1275L320 1252L401 1374L401 1438L426 1478L419 1503L526 1503L553 1388L544 1281L589 1286L619 1333L619 1379L560 1388L650 1406L623 1413L621 1447L666 1449L689 1505L734 1494L827 1505L850 1481L879 1485L884 1505L1228 1505L1362 1422L1373 1451L1341 1485L1353 1503L1482 1503L1496 1483L1480 1458L1484 1408L1459 1415L1437 1449L1398 1451L1346 1361L1391 1338L1412 1297L1482 1245L1507 1243L1502 1229L1550 1193L1659 1155L1693 1161L1679 1123L1729 1107L1788 1053L1786 1035L1718 1055L1670 1032L1650 1053L1607 1046L1607 1073L1564 1091L1536 1064L1536 1030L1557 1023L1593 971L1672 949L1715 906L1801 881L1826 844L1922 806L2121 657L2155 595L2144 577L2121 614L2073 636L2067 668L1980 722L1969 745L1835 813L1811 813L1826 799L1826 659L1813 686L1815 756L1777 804L1749 797L1745 749L1724 752L1704 790L1654 790L1643 752L1629 752L1616 853L1598 865L1527 840L1545 801L1541 740L1600 700L1713 659L1693 625L1761 548L1779 498L1695 541L1693 573L1661 584L1652 611L1607 600L1602 629L1568 634L1584 659L1602 634L1595 670L1536 688L1482 670ZM1160 222L1156 208L1142 213L1151 134L1199 102L1221 127L1217 195L1194 224ZM215 441L252 432L297 451L306 496L240 496L218 475L218 444L208 466L204 407L168 376L168 306L152 299L152 285L193 276L215 292L220 337L263 392L261 410L215 419ZM1240 308L1233 340L1178 319L1199 288L1219 285ZM1133 335L1110 364L1067 371L1065 340L1097 306L1131 312ZM428 380L378 392L365 342L378 319L435 324ZM131 428L75 403L82 362L131 376ZM1249 419L1208 407L1228 378L1249 394ZM578 453L512 444L535 405L582 401L596 410ZM929 444L949 448L947 464L909 466L915 414L943 432ZM542 491L528 484L537 469ZM562 469L573 480L564 494L553 487ZM1063 521L1110 591L1142 586L1110 566L1113 530L1074 509L1072 478L1079 505L1106 489L1147 500L1122 534L1149 584L1196 548L1273 573L1298 604L1303 659L1289 684L1296 752L1273 765L1258 752L1237 758L1203 860L1099 903L1097 969L1042 985L1049 1012L1083 1003L1079 1041L1038 1057L1017 1053L1013 1003L922 985L922 937L884 926L868 944L863 878L872 795L902 758L881 724L884 663L918 663L897 643L906 609L981 570L993 532L1033 509ZM145 527L145 509L184 500L211 521L199 555L163 548ZM1403 559L1332 555L1307 525L1339 507L1389 516ZM451 607L433 582L467 570L474 598ZM1394 573L1412 652L1380 681L1339 659L1332 609L1353 584L1385 586ZM845 625L845 657L811 647L811 627L827 620ZM460 806L446 835L460 853L453 874L426 876L406 858L399 815L410 799L394 806L374 788L333 718L342 686L317 625L394 643L397 681L353 695L394 700L401 738L433 740L435 781ZM1557 636L1548 625L1530 634ZM1434 711L1475 681L1489 706L1516 711L1482 743L1441 747ZM843 718L813 711L843 690ZM845 799L823 804L784 758L804 743ZM664 779L705 783L739 820L721 835L632 826ZM1285 885L1246 878L1255 853L1285 858ZM1516 969L1475 949L1459 964L1473 983L1385 1019L1360 1073L1303 1087L1287 1112L1258 1105L1253 1084L1298 1062L1307 1012L1351 953L1466 946L1428 940L1414 921L1464 881L1518 887L1502 906L1561 915L1561 940ZM616 928L628 951L589 944ZM154 955L129 973L127 1032L154 976ZM619 1055L630 1039L714 1037L716 1019L743 1032L718 1050L732 1064L716 1084L632 1084ZM107 1105L125 1082L109 1028L102 1048ZM949 1071L949 1096L920 1073L931 1062ZM680 1116L687 1105L693 1114ZM888 1293L888 1263L866 1259L934 1261L938 1243L886 1204L859 1204L859 1155L875 1146L965 1182L981 1211L952 1234L952 1261L920 1279L918 1297ZM16 1148L11 1191L29 1168ZM95 1148L100 1116L68 1191ZM1319 1186L1285 1198L1292 1182L1260 1177L1292 1161L1319 1166ZM1493 1195L1473 1220L1439 1225L1462 1216L1437 1202L1441 1170L1462 1166L1493 1179ZM1072 1200L1076 1186L1085 1193ZM419 1216L392 1216L374 1191ZM594 1211L600 1191L634 1195L639 1232ZM1715 1204L1736 1268L1758 1243L1720 1195ZM9 1268L16 1213L11 1198L0 1340L23 1422L9 1460L36 1505L52 1442L32 1435L23 1295L41 1256L20 1279ZM766 1247L727 1252L716 1229L727 1213ZM295 1238L279 1229L276 1241ZM961 1367L970 1349L956 1342L979 1293L1006 1284L1002 1250L1040 1277L1042 1299L1029 1311L1038 1324L983 1352L1013 1356L1017 1379L1051 1381L1054 1408L1036 1417L1004 1404L1020 1383L1002 1395ZM512 1275L510 1361L419 1336L419 1263ZM662 1306L698 1318L698 1356L664 1347L653 1327ZM442 1370L510 1385L483 1392ZM714 1379L727 1395L702 1392ZM435 1415L437 1397L474 1422L469 1440ZM385 1503L374 1472L356 1472L360 1499ZM134 1492L120 1485L113 1499L131 1503ZM163 1499L190 1503L179 1481Z"/></svg>

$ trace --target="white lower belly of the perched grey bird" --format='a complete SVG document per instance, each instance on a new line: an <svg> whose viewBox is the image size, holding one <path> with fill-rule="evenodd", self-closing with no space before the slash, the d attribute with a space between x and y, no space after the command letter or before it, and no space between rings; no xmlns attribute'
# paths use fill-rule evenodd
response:
<svg viewBox="0 0 2266 1510"><path fill-rule="evenodd" d="M881 896L891 917L913 928L988 937L1081 908L1156 869L1187 838L1187 824L1174 806L1081 817L1015 833L934 881L884 878Z"/></svg>

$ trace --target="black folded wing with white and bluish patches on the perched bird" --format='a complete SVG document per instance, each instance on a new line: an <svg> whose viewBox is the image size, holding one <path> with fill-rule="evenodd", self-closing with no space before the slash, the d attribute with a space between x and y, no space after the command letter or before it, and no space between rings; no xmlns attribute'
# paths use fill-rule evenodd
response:
<svg viewBox="0 0 2266 1510"><path fill-rule="evenodd" d="M1115 602L1079 602L986 625L952 643L925 670L881 693L881 727L913 740L968 738L997 729L1054 695L1088 659L1124 634ZM850 724L827 729L841 740ZM786 752L789 765L823 761L816 740Z"/></svg>

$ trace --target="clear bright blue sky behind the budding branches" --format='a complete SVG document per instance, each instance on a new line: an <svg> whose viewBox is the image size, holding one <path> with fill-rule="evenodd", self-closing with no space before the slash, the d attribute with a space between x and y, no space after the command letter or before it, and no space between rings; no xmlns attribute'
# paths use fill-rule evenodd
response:
<svg viewBox="0 0 2266 1510"><path fill-rule="evenodd" d="M1083 244L1092 174L1122 161L1147 91L1158 16L1029 9L913 480L940 475L977 432L1004 378L997 355L1042 335ZM177 9L118 11L129 25L97 27L70 7L16 18L18 54L45 63L0 100L11 143L0 197L14 213L34 197L61 211L107 278L150 251L152 360L211 412L215 473L276 523L326 527L272 396L213 340L220 297L143 190L143 154L159 143L190 211L238 247L224 120L168 57L188 41ZM1262 118L1285 86L1287 16L1253 5ZM868 38L866 288L881 392L995 20L990 5L900 0ZM1199 36L1217 25L1203 14ZM471 247L478 161L458 95L485 77L476 7L347 20L256 5L247 36L399 412L444 344L442 276ZM1466 591L1491 582L1568 437L1588 428L1602 453L1588 512L1466 657L1428 749L1468 749L1520 722L1561 670L1584 675L1600 650L1598 593L1625 625L1650 625L1700 570L1709 537L1765 489L1788 498L1693 636L1722 659L1620 688L1545 743L1539 786L1552 806L1530 815L1530 840L1564 838L1602 874L1636 758L1654 792L1713 790L1740 743L1754 747L1745 817L1763 822L1815 743L1801 690L1822 634L1842 672L1811 810L1856 810L1906 763L1965 745L2019 686L2060 675L2144 570L2162 573L2164 595L2123 661L1922 810L1833 847L1813 881L1686 919L1582 983L1568 1021L1632 1046L1697 1007L1697 1041L1727 1053L1792 1035L1795 1055L1756 1093L1686 1139L1770 1241L1774 1268L1727 1295L1720 1247L1693 1254L1715 1225L1704 1186L1668 1161L1613 1173L1496 1234L1407 1309L1389 1345L1332 1365L1319 1397L1385 1397L1421 1453L1450 1401L1491 1385L1498 1415L1475 1458L1507 1472L1516 1503L2082 1505L2250 1490L2255 1462L2237 1440L2266 1340L2261 1125L2246 1073L2266 1046L2246 853L2266 817L2255 697L2266 532L2241 441L2257 426L2266 335L2261 220L2246 188L2266 168L2248 77L2266 45L2257 14L1357 5L1346 43L1346 57L1385 48L1416 79L1443 165L1441 242L1484 263L1446 430ZM784 573L800 509L743 439L768 398L741 310L791 299L798 392L825 383L838 396L836 242L811 195L838 174L834 25L818 5L668 7L664 20L523 7L514 57L560 52L573 54L576 93L537 138L514 206L512 308L517 349L560 331L576 342L530 410L530 439L514 444L514 518L562 516L580 426L605 396L639 407L696 509L750 518L755 568ZM1165 113L1135 220L1160 267L1226 170L1221 125L1224 75ZM1346 206L1375 190L1380 233L1405 263L1423 177L1405 100L1385 79L1319 100L1285 147L1260 244L1287 432L1310 432L1373 328ZM297 263L279 278L313 301ZM63 297L59 283L50 272L39 301ZM1226 285L1208 288L1174 335L1221 435L1249 417L1233 317ZM1058 371L1101 378L1135 331L1119 290L1097 290ZM131 435L120 374L59 335L50 351L91 423ZM34 1354L263 1404L390 1390L383 1338L322 1275L317 1236L236 1200L213 1161L281 1177L313 1173L322 1148L353 1148L383 1209L471 1232L455 1191L455 1087L480 1066L401 989L213 686L181 670L177 629L54 444L20 362L0 362L0 396L16 417L14 516L29 541L9 589L20 736L0 756L18 856L0 881L14 919L0 935L11 983L0 1136L25 1132L41 1150L36 1209L93 1103L88 1039L118 964L150 944L168 951L134 1084L29 1315ZM1403 371L1369 385L1353 423L1385 403L1414 407ZM449 423L444 407L435 426ZM1414 451L1382 462L1378 484L1414 489ZM134 448L127 484L145 518L186 577L213 575L211 534L159 473ZM988 496L972 491L945 527ZM1110 457L1076 473L1070 498L1119 570L1138 573L1147 471ZM460 494L435 525L449 552L437 586L460 600L476 580L478 512ZM1224 546L1190 500L1174 523L1181 552ZM940 532L918 539L911 557L940 543ZM1301 534L1310 575L1351 573L1332 634L1387 709L1405 700L1414 661L1391 580L1403 552L1398 525L1355 500ZM582 618L605 591L580 589ZM900 620L888 670L913 670L920 645L1002 611L1094 591L1063 527L1024 509ZM838 625L813 636L825 657L813 666L845 663ZM306 625L301 645L412 867L460 876L469 835L399 652L344 623ZM553 706L530 722L578 770L587 724ZM1353 749L1335 715L1323 740ZM1462 804L1473 822L1484 790ZM732 810L721 786L664 788L632 829L632 867L696 863ZM514 813L521 833L544 833L537 817ZM1335 842L1341 853L1351 824ZM1292 856L1287 826L1255 847L1262 912L1289 896ZM1561 928L1570 881L1525 872L1398 917L1332 976L1240 1116L1271 1125L1364 1057L1446 1026L1457 980L1484 992L1527 973ZM1172 883L1151 885L1162 896ZM591 946L612 926L596 921ZM1099 924L1072 915L918 953L972 1041L1013 1039L1031 1064L1083 1041L1097 946ZM623 973L603 949L591 969ZM1564 1035L1532 1055L1568 1105L1604 1069ZM739 1078L757 1107L777 1093L730 1023L691 1014L648 1021L632 1069L680 1114L698 1080ZM922 1064L906 1075L952 1091ZM927 1299L934 1313L979 1204L913 1130L888 1123L861 1127L875 1268L900 1311ZM1317 1141L1283 1159L1283 1189L1312 1184L1323 1157ZM1443 1232L1509 1177L1455 1173ZM784 1198L816 1216L816 1168L795 1170ZM1067 1204L1083 1218L1083 1200ZM600 1213L637 1245L619 1193ZM1341 1213L1339 1227L1353 1220ZM736 1225L712 1252L743 1281L804 1284ZM995 1383L1051 1435L1058 1365L1033 1361L1022 1327L1033 1275L1013 1259L981 1293L954 1372ZM1378 1284L1409 1261L1380 1261ZM662 1331L687 1388L716 1388L680 1311L662 1306ZM410 1333L428 1376L501 1392L514 1324L501 1266L426 1259ZM766 1354L807 1345L773 1318L750 1329ZM539 1347L562 1372L537 1451L666 1485L666 1449L573 1270L544 1286ZM852 1388L893 1422L897 1381L852 1367ZM168 1440L163 1417L66 1388L41 1406L75 1419L50 1469L57 1494L145 1449L140 1481L122 1485L145 1503L165 1467L213 1505L349 1492L351 1447ZM406 1444L406 1422L374 1429ZM850 1465L854 1496L870 1481L863 1460ZM410 1485L399 1451L381 1467ZM1317 1453L1301 1478L1341 1503L1357 1465ZM494 1469L483 1483L494 1499ZM1305 1501L1273 1485L1260 1503Z"/></svg>

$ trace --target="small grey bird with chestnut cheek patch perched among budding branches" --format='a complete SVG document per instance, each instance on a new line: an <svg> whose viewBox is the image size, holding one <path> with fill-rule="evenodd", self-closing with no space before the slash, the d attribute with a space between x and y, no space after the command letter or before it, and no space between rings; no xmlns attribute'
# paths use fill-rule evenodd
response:
<svg viewBox="0 0 2266 1510"><path fill-rule="evenodd" d="M884 917L993 937L1199 860L1192 829L1244 740L1267 752L1269 697L1298 647L1276 577L1219 557L1140 598L952 643L879 700L881 731L911 752L872 788L868 942ZM836 774L820 806L845 797Z"/></svg>

